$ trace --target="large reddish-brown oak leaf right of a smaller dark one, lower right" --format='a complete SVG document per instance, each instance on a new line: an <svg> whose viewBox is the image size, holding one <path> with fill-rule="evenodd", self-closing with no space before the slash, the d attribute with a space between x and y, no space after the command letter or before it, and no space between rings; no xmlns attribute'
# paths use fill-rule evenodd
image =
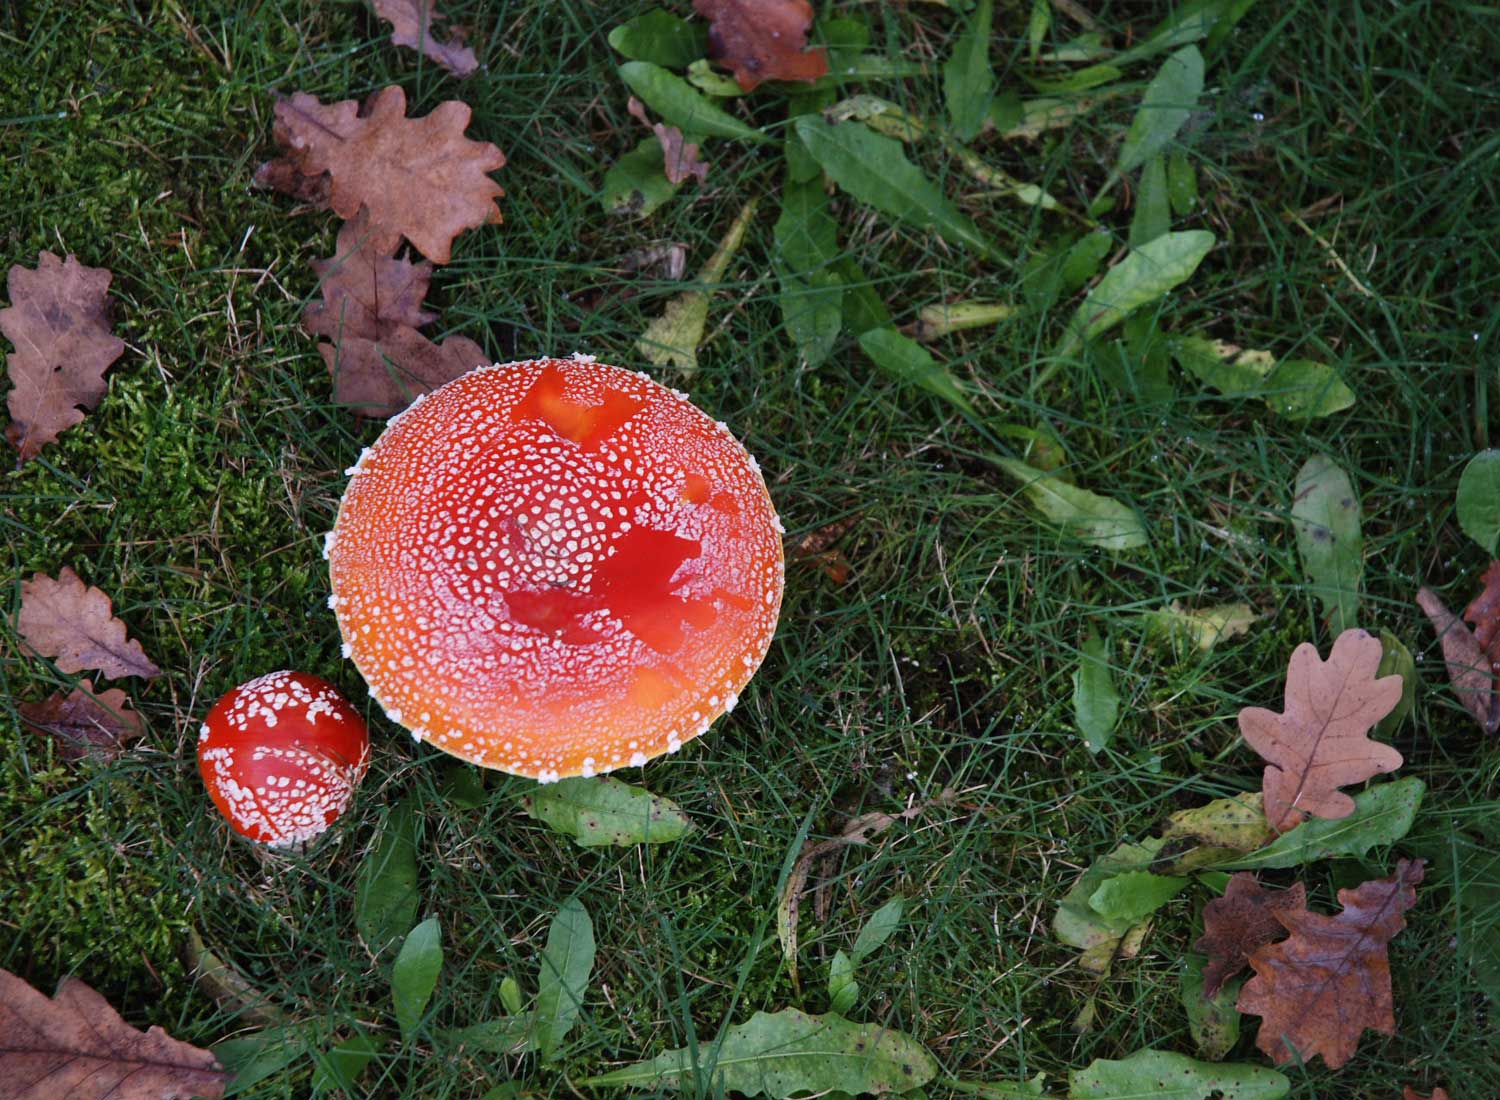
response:
<svg viewBox="0 0 1500 1100"><path fill-rule="evenodd" d="M1322 1055L1336 1070L1365 1028L1395 1034L1386 947L1406 927L1401 914L1416 905L1420 881L1422 860L1400 860L1390 878L1340 890L1336 915L1276 911L1292 935L1250 956L1256 975L1234 1005L1262 1017L1256 1046L1272 1061Z"/></svg>

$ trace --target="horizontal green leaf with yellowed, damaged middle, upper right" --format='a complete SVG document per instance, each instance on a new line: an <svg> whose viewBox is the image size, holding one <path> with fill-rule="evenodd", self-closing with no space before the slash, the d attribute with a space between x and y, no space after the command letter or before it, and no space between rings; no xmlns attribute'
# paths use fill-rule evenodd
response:
<svg viewBox="0 0 1500 1100"><path fill-rule="evenodd" d="M1179 336L1172 341L1178 365L1228 398L1263 398L1288 420L1332 416L1354 404L1354 392L1326 363L1284 359L1224 341Z"/></svg>

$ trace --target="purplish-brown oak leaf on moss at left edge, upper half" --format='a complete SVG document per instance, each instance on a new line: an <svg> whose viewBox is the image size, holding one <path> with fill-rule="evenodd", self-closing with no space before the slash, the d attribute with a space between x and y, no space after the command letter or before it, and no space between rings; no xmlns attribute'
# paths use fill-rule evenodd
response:
<svg viewBox="0 0 1500 1100"><path fill-rule="evenodd" d="M38 255L36 270L10 269L10 308L0 309L0 332L15 345L8 360L6 438L22 462L82 422L84 410L105 395L104 372L124 351L106 317L111 278L78 257L58 260L51 252Z"/></svg>

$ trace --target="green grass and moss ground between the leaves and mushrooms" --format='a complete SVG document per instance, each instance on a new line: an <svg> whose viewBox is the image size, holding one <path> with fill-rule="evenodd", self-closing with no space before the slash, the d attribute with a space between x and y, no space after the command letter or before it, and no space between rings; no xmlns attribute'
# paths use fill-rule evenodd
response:
<svg viewBox="0 0 1500 1100"><path fill-rule="evenodd" d="M51 248L111 269L116 330L130 345L102 405L0 489L10 606L21 576L72 564L168 669L134 692L150 723L138 752L66 767L20 731L14 704L69 678L4 648L0 965L46 990L76 974L132 1023L210 1044L244 1028L180 962L196 927L288 1016L309 1020L318 1043L356 1028L381 1035L363 1079L370 1095L480 1097L512 1074L530 1092L562 1095L568 1076L692 1032L706 1040L759 1008L822 1010L834 948L900 894L910 921L862 968L855 1016L918 1035L945 1073L1044 1070L1056 1083L1070 1067L1140 1046L1191 1050L1176 1002L1194 935L1186 896L1102 984L1071 965L1048 921L1078 869L1118 840L1257 782L1234 713L1280 698L1298 642L1330 642L1287 522L1294 473L1322 450L1362 498L1362 624L1419 654L1418 710L1396 744L1430 794L1398 851L1311 867L1311 893L1329 906L1336 887L1388 873L1398 852L1436 866L1392 950L1400 1032L1366 1035L1338 1073L1290 1070L1293 1095L1383 1097L1408 1082L1500 1091L1492 989L1452 945L1452 887L1467 873L1452 852L1464 830L1488 822L1496 837L1500 747L1458 711L1412 605L1419 582L1466 602L1485 564L1460 536L1452 500L1462 464L1494 443L1494 12L1260 5L1209 56L1208 110L1190 147L1203 201L1176 228L1210 228L1221 246L1158 321L1330 362L1359 395L1350 411L1298 426L1176 374L1162 399L1130 365L1068 363L1032 393L1071 302L934 347L980 395L986 425L1050 426L1082 485L1148 518L1150 549L1114 557L1041 525L987 461L988 432L878 374L848 336L825 366L800 363L768 273L774 150L714 143L708 186L684 188L648 222L600 213L604 167L639 140L604 36L646 6L454 0L488 63L462 84L393 50L360 5L87 0L0 17L0 260L30 266ZM928 63L946 57L962 26L922 5L834 8L868 20L874 48ZM1024 9L996 14L1002 89L1024 90ZM1161 14L1095 11L1137 36ZM294 216L248 185L268 152L276 93L363 98L392 81L412 113L464 98L471 135L510 158L506 225L462 237L432 296L441 326L496 359L584 350L634 362L636 336L678 285L624 276L620 258L680 240L692 269L747 195L771 197L714 299L699 372L669 381L747 440L792 543L858 516L842 543L854 579L834 587L790 563L778 639L741 707L644 779L627 774L694 816L702 828L686 842L580 851L520 816L525 785L502 776L488 777L482 807L464 809L444 786L462 765L414 746L378 711L372 774L306 857L266 860L208 812L190 731L224 690L290 665L366 705L338 656L318 551L342 470L378 425L330 404L298 327L315 293L308 260L332 254L334 221ZM939 80L876 90L942 117ZM1036 144L978 147L1082 209L1136 98ZM752 102L762 122L778 117L774 96ZM912 156L1018 258L1066 228L984 198L934 146ZM848 200L837 212L844 248L898 323L945 299L1022 299L1020 264L981 266ZM1130 212L1102 221L1124 242ZM1248 600L1264 620L1209 653L1173 650L1148 638L1140 615L1173 599ZM1113 636L1125 699L1098 758L1083 750L1070 701L1084 624ZM804 830L836 834L849 815L944 788L963 806L822 869L828 905L820 917L804 906L798 996L774 906ZM360 855L402 795L422 807L423 911L442 918L447 944L434 1026L502 1014L500 978L534 983L558 902L576 893L590 906L600 960L560 1068L396 1040L388 965L354 939L351 906ZM1077 1034L1088 996L1098 996L1095 1026ZM1238 1053L1258 1059L1248 1040ZM309 1089L303 1062L250 1092Z"/></svg>

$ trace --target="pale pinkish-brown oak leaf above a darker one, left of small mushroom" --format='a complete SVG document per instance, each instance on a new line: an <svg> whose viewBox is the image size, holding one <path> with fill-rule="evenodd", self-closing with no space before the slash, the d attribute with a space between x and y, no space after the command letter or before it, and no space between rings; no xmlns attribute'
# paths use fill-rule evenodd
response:
<svg viewBox="0 0 1500 1100"><path fill-rule="evenodd" d="M16 630L34 653L51 657L63 672L94 669L110 680L162 674L141 644L126 636L110 597L92 588L68 566L54 581L36 573L21 581L21 617Z"/></svg>

